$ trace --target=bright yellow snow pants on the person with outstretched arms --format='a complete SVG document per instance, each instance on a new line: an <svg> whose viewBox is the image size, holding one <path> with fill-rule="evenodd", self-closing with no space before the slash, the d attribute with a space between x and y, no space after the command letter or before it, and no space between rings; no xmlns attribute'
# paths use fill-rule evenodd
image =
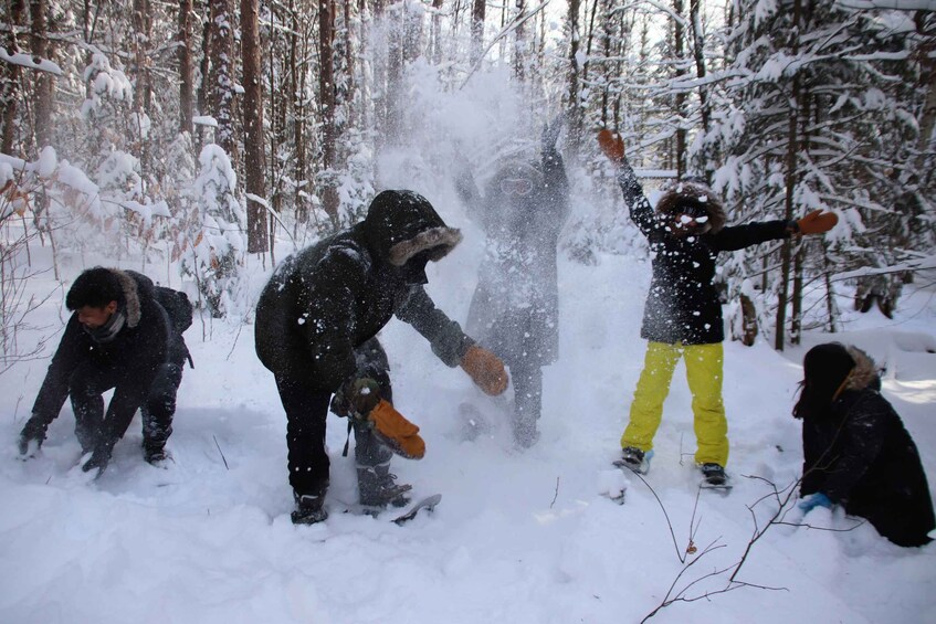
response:
<svg viewBox="0 0 936 624"><path fill-rule="evenodd" d="M680 357L685 359L686 379L692 392L692 412L698 448L698 464L728 462L728 421L722 402L724 349L711 345L666 345L649 342L643 371L631 403L630 422L621 436L621 446L641 451L653 448L653 436L663 416L663 401Z"/></svg>

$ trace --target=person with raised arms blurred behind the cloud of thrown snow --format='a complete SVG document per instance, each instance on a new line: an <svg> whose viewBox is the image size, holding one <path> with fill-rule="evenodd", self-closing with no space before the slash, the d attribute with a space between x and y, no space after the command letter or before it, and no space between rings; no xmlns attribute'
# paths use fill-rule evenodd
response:
<svg viewBox="0 0 936 624"><path fill-rule="evenodd" d="M559 350L556 247L566 223L568 181L556 150L561 119L543 133L539 162L502 163L484 197L465 167L455 188L487 234L467 330L504 358L514 384L514 441L536 442L543 367Z"/></svg>

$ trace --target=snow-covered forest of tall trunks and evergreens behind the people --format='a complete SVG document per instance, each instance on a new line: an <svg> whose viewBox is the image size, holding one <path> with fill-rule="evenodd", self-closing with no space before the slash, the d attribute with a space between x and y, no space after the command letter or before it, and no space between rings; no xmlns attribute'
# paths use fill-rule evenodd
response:
<svg viewBox="0 0 936 624"><path fill-rule="evenodd" d="M601 127L646 184L704 178L734 223L839 214L724 258L746 343L835 331L837 289L890 314L936 264L925 0L3 0L0 36L7 367L35 355L17 335L36 241L56 277L62 253L134 258L250 320L244 267L272 266L271 241L298 248L401 182L435 201L559 115L589 207L562 237L577 262L640 244Z"/></svg>

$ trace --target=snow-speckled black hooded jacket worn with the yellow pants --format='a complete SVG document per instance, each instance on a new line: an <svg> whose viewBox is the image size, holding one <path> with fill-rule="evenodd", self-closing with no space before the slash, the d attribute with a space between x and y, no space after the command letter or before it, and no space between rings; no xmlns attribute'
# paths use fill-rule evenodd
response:
<svg viewBox="0 0 936 624"><path fill-rule="evenodd" d="M717 198L707 187L692 183L677 184L665 193L654 213L627 162L618 182L631 219L646 236L653 254L653 277L641 337L669 345L722 342L725 328L714 284L718 253L789 237L787 222L764 221L726 228L725 213ZM711 224L708 232L687 236L671 232L681 201L705 207Z"/></svg>

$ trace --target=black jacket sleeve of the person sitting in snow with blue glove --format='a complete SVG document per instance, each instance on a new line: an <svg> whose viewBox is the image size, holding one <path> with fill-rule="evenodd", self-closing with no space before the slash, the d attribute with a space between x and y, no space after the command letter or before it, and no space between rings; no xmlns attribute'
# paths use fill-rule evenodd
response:
<svg viewBox="0 0 936 624"><path fill-rule="evenodd" d="M832 503L846 500L877 458L886 437L890 410L890 404L877 393L865 394L849 410L842 424L841 453L818 488Z"/></svg>

